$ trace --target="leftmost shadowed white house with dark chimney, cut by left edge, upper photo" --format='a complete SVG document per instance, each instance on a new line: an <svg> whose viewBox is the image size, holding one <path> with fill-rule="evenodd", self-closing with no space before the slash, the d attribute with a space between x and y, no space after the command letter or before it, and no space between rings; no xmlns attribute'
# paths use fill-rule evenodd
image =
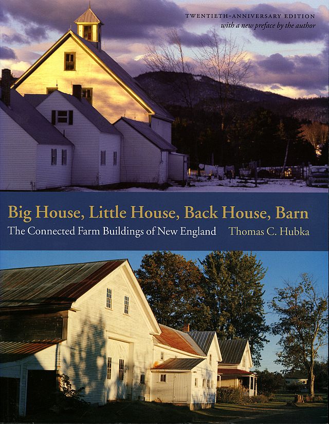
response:
<svg viewBox="0 0 329 424"><path fill-rule="evenodd" d="M0 101L0 189L41 190L70 185L72 143L15 90ZM6 76L6 71L9 76Z"/></svg>

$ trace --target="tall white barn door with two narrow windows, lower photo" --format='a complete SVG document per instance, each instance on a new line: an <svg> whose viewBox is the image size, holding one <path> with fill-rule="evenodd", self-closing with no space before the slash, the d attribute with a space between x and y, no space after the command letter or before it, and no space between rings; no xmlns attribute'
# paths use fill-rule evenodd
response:
<svg viewBox="0 0 329 424"><path fill-rule="evenodd" d="M108 339L106 358L107 400L126 399L129 343Z"/></svg>

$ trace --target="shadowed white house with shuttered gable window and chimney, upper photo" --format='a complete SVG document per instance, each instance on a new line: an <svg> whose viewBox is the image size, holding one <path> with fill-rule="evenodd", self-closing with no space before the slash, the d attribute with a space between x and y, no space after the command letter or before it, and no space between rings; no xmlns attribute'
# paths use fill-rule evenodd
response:
<svg viewBox="0 0 329 424"><path fill-rule="evenodd" d="M121 134L86 99L80 85L73 95L25 94L25 98L75 146L70 185L120 182Z"/></svg>

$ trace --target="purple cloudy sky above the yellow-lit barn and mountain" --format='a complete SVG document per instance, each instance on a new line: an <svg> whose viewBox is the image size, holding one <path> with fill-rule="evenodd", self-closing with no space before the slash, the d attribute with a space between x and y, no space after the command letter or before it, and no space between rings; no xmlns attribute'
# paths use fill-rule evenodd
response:
<svg viewBox="0 0 329 424"><path fill-rule="evenodd" d="M1 66L21 75L70 26L76 30L75 19L88 7L81 0L0 0L2 42ZM133 76L145 71L145 45L159 43L168 29L175 27L181 34L185 54L193 61L200 36L213 25L233 23L233 28L220 28L221 36L237 38L248 52L252 72L247 85L288 95L303 97L327 94L327 7L318 0L308 4L293 2L262 2L249 0L237 3L205 0L93 0L92 9L104 23L103 44ZM223 18L191 17L194 13L226 13ZM249 13L249 18L233 15ZM187 15L188 14L188 17ZM255 17L256 14L277 15ZM284 15L288 15L285 18ZM304 14L289 18L289 14ZM314 14L315 17L307 17ZM278 17L280 15L280 17ZM294 24L294 28L279 29L278 24ZM275 28L255 28L255 25L275 24ZM296 25L314 25L296 28ZM253 28L242 28L252 24ZM239 27L238 27L239 25Z"/></svg>

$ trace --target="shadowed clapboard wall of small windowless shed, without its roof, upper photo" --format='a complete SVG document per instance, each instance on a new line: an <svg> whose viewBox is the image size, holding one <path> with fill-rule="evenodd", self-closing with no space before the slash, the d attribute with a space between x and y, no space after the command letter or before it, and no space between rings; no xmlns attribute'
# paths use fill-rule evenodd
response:
<svg viewBox="0 0 329 424"><path fill-rule="evenodd" d="M124 121L115 127L123 134L121 182L157 183L167 181L167 152L161 150Z"/></svg>

